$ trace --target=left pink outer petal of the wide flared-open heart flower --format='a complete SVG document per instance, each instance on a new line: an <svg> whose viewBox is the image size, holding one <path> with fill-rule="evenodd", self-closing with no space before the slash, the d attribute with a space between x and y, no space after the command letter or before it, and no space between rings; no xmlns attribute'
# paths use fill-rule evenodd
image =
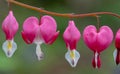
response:
<svg viewBox="0 0 120 74"><path fill-rule="evenodd" d="M36 17L29 17L23 23L23 31L21 32L24 41L28 44L33 43L37 28L39 28L39 21Z"/></svg>

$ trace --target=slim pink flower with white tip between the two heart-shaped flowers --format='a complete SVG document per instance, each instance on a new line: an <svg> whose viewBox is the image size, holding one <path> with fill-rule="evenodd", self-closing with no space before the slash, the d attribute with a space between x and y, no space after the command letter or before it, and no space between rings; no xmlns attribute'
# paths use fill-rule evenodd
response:
<svg viewBox="0 0 120 74"><path fill-rule="evenodd" d="M76 45L80 39L80 36L81 34L75 26L74 21L69 21L68 27L63 34L63 38L68 49L68 52L65 54L65 59L72 67L75 67L77 65L77 62L80 58L80 54L76 50Z"/></svg>

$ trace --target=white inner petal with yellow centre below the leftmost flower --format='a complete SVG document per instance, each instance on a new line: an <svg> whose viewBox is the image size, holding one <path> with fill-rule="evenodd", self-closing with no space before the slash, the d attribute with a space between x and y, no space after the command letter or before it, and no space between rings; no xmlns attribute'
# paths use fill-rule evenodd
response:
<svg viewBox="0 0 120 74"><path fill-rule="evenodd" d="M7 57L12 57L15 50L17 49L17 44L14 42L14 40L6 40L3 43L2 48Z"/></svg>

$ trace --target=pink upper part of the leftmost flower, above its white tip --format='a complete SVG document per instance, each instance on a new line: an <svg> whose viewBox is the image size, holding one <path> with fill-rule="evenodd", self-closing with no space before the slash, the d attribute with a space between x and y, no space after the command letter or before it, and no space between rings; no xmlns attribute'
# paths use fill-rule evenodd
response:
<svg viewBox="0 0 120 74"><path fill-rule="evenodd" d="M7 40L12 40L18 31L18 22L13 15L12 11L9 11L8 16L4 19L2 23L2 30L6 35Z"/></svg>

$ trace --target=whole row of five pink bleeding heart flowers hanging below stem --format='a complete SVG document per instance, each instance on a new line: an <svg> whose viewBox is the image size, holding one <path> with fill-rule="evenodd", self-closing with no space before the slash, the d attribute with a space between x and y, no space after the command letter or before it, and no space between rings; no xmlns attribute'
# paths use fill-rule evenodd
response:
<svg viewBox="0 0 120 74"><path fill-rule="evenodd" d="M8 16L2 23L2 30L6 35L6 41L3 43L3 50L7 57L11 57L17 49L17 44L14 41L14 36L18 31L19 25L12 11L9 11ZM23 23L21 32L23 40L27 44L36 44L36 55L38 60L43 59L44 54L41 50L41 44L52 44L58 37L57 23L55 19L49 15L44 15L40 18L31 16ZM75 26L73 20L70 20L66 30L63 33L63 39L68 49L65 54L65 59L72 67L77 65L80 58L79 52L76 50L77 43L80 40L81 33ZM108 48L113 40L113 32L108 26L102 26L99 30L95 26L89 25L83 31L83 40L88 48L94 52L92 65L94 68L100 68L100 53ZM114 59L116 64L120 63L120 29L115 36Z"/></svg>

